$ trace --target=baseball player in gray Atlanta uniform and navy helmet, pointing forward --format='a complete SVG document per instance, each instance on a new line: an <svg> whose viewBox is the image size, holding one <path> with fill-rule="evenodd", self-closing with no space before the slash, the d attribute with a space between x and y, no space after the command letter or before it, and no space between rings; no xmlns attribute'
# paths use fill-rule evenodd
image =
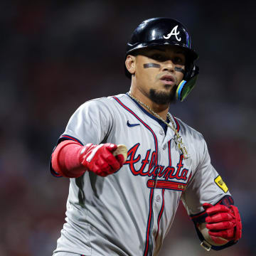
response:
<svg viewBox="0 0 256 256"><path fill-rule="evenodd" d="M241 238L203 136L169 112L195 85L196 58L183 24L143 21L127 43L129 92L75 111L50 160L53 175L70 178L53 255L158 255L180 200L206 250Z"/></svg>

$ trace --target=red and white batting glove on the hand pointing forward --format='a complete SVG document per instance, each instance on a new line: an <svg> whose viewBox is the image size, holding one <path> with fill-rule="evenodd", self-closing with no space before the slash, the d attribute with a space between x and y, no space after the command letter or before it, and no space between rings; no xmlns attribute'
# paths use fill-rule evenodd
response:
<svg viewBox="0 0 256 256"><path fill-rule="evenodd" d="M116 144L106 143L100 145L86 144L80 151L80 162L87 170L99 176L107 176L119 170L124 164L124 158L113 156Z"/></svg>

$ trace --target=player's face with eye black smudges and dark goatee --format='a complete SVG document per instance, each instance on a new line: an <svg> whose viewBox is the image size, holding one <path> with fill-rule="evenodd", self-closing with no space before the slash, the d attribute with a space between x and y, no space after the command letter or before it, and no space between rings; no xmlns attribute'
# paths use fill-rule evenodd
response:
<svg viewBox="0 0 256 256"><path fill-rule="evenodd" d="M175 100L176 89L183 79L185 53L178 46L141 50L135 56L136 86L157 104Z"/></svg>

